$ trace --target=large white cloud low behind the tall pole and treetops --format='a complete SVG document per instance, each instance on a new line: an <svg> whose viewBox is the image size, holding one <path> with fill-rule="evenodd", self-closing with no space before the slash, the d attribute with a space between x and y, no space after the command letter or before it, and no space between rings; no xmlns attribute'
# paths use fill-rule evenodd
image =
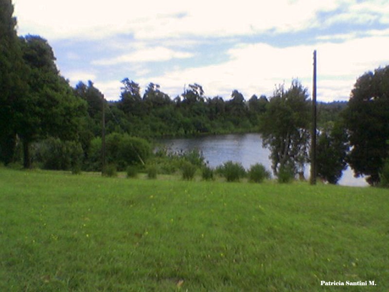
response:
<svg viewBox="0 0 389 292"><path fill-rule="evenodd" d="M356 78L379 66L389 64L386 53L388 38L366 37L343 43L319 43L316 46L274 48L258 43L240 45L229 51L230 60L199 68L170 71L164 75L139 80L152 81L172 97L182 92L185 84L198 83L207 96L241 91L248 99L252 94L271 95L275 85L292 78L301 80L309 91L312 87L313 50L318 52L318 99L348 99Z"/></svg>

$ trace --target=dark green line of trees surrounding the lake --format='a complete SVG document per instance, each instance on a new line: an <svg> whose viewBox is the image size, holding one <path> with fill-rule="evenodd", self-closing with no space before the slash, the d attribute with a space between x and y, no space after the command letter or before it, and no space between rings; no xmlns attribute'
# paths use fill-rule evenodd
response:
<svg viewBox="0 0 389 292"><path fill-rule="evenodd" d="M47 40L18 37L11 0L0 3L0 160L4 164L22 159L29 168L40 159L47 168L76 164L98 170L103 107L111 158L120 165L146 159L151 149L146 140L231 132L260 132L271 150L275 175L303 173L310 162L310 100L299 81L287 89L278 86L272 96L252 95L246 100L233 90L224 100L207 97L196 83L175 98L154 83L141 94L138 83L124 78L120 99L106 102L92 81L71 87L59 74ZM318 175L325 181L336 183L347 163L373 185L385 178L388 68L363 74L348 103L318 104ZM53 153L64 157L62 163L48 159Z"/></svg>

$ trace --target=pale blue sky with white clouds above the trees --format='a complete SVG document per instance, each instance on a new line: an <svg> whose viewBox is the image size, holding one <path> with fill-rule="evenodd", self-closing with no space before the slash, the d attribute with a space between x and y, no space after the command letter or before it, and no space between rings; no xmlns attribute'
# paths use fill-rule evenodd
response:
<svg viewBox="0 0 389 292"><path fill-rule="evenodd" d="M349 100L359 76L389 65L389 0L13 0L18 35L48 40L72 86L120 99L121 80L171 98L189 84L228 100L271 96L298 79L319 101ZM142 93L141 92L141 93Z"/></svg>

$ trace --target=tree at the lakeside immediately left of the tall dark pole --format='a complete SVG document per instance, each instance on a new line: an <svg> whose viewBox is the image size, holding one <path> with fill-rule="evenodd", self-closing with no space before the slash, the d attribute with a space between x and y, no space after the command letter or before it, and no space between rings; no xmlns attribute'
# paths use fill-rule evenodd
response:
<svg viewBox="0 0 389 292"><path fill-rule="evenodd" d="M310 107L307 89L294 80L284 91L280 86L261 117L263 146L270 148L275 175L280 168L303 171L308 161Z"/></svg>

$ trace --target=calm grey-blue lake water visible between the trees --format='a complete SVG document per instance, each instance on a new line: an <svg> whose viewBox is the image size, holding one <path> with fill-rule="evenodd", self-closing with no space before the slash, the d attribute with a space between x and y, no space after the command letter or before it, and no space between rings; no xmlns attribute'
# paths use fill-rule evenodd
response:
<svg viewBox="0 0 389 292"><path fill-rule="evenodd" d="M240 162L246 169L252 164L261 163L270 171L270 151L262 147L259 134L229 134L186 139L164 139L159 141L172 151L199 149L211 167L232 160ZM305 170L305 178L309 177L309 169ZM363 178L354 178L353 172L347 168L338 182L340 185L367 186Z"/></svg>

